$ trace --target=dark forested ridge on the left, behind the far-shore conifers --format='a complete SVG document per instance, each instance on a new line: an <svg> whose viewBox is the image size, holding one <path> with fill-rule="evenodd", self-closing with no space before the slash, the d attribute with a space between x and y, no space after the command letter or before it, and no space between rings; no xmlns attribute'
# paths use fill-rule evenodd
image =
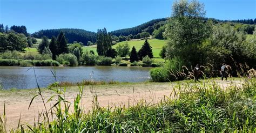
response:
<svg viewBox="0 0 256 133"><path fill-rule="evenodd" d="M42 38L42 36L46 36L49 39L52 35L56 36L59 32L62 31L65 33L66 38L69 43L73 41L83 42L86 45L87 41L96 42L97 33L85 31L84 29L76 29L76 28L60 28L60 29L45 29L32 34L35 38Z"/></svg>

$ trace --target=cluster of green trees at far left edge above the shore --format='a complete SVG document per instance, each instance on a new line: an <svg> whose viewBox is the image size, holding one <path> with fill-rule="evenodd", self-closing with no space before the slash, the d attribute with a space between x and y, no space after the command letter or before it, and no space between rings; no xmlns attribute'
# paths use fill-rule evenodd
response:
<svg viewBox="0 0 256 133"><path fill-rule="evenodd" d="M0 51L24 51L28 45L26 36L15 33L0 33Z"/></svg>

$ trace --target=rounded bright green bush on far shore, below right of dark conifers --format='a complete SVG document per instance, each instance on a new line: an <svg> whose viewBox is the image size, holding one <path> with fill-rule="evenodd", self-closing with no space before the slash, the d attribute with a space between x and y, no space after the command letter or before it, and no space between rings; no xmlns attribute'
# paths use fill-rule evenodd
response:
<svg viewBox="0 0 256 133"><path fill-rule="evenodd" d="M78 65L77 57L73 54L60 54L57 57L57 61L60 64L66 64L66 65L70 65L70 66Z"/></svg>

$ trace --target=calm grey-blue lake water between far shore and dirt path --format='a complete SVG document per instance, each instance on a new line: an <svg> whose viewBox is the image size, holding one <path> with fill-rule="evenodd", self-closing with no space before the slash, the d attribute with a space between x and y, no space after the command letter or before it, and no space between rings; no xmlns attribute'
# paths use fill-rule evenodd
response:
<svg viewBox="0 0 256 133"><path fill-rule="evenodd" d="M52 67L35 67L37 81L40 87L46 87L55 82L51 73ZM118 82L144 82L150 79L150 68L142 67L56 67L58 82L81 82L82 80ZM36 78L30 67L0 67L0 87L36 88Z"/></svg>

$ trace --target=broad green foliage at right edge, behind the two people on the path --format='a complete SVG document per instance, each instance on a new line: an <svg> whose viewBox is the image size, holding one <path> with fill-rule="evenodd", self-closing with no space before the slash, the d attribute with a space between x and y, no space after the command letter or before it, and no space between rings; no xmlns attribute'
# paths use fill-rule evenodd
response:
<svg viewBox="0 0 256 133"><path fill-rule="evenodd" d="M213 34L203 43L203 49L208 63L214 69L219 69L222 63L231 65L232 73L237 73L241 64L256 67L255 40L246 41L246 35L237 32L233 27L226 25L214 26Z"/></svg>

